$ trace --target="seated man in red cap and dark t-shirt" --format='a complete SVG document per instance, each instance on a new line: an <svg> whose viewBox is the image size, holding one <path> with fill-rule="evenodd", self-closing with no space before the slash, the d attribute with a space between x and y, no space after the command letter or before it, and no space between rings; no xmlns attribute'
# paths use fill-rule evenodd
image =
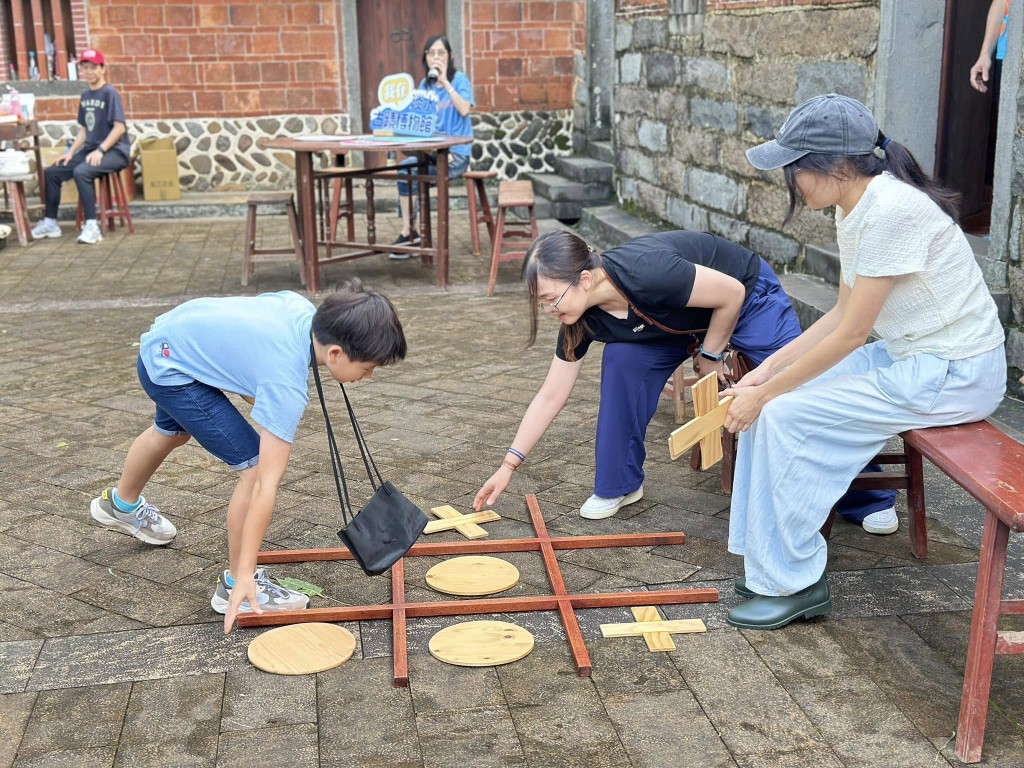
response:
<svg viewBox="0 0 1024 768"><path fill-rule="evenodd" d="M78 108L78 135L68 152L46 169L46 218L36 224L32 237L60 237L57 225L60 186L74 178L85 217L78 242L92 245L103 239L96 223L94 182L99 176L117 173L128 166L130 141L121 95L106 82L103 54L89 48L82 53L78 71L89 85Z"/></svg>

